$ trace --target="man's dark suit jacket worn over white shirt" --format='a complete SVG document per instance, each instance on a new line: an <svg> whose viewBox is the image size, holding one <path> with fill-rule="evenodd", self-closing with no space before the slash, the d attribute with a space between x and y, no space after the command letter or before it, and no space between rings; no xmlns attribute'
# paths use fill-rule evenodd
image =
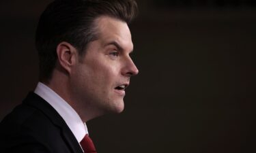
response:
<svg viewBox="0 0 256 153"><path fill-rule="evenodd" d="M0 152L83 153L66 122L44 99L30 92L0 124Z"/></svg>

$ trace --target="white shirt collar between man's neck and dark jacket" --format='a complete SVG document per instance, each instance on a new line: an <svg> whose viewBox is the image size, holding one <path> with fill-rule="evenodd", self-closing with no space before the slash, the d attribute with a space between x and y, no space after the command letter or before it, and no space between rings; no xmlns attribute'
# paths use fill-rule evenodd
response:
<svg viewBox="0 0 256 153"><path fill-rule="evenodd" d="M59 113L66 124L68 124L68 127L78 142L88 134L87 126L83 123L79 114L51 88L38 82L38 86L36 86L34 92L47 101Z"/></svg>

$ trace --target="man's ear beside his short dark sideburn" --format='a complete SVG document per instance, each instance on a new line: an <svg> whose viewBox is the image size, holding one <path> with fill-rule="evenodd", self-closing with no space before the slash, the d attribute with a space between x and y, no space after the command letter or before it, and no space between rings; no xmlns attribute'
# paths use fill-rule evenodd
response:
<svg viewBox="0 0 256 153"><path fill-rule="evenodd" d="M59 65L65 69L68 73L71 72L72 66L75 65L77 59L77 50L66 41L59 43L56 49L57 61Z"/></svg>

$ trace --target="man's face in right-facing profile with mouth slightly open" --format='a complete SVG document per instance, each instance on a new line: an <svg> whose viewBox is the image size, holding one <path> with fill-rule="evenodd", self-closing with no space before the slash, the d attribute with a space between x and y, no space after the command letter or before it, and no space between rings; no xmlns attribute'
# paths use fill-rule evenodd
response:
<svg viewBox="0 0 256 153"><path fill-rule="evenodd" d="M133 50L126 22L101 16L96 19L98 39L91 41L72 71L74 95L91 112L122 112L130 76L139 72L130 58Z"/></svg>

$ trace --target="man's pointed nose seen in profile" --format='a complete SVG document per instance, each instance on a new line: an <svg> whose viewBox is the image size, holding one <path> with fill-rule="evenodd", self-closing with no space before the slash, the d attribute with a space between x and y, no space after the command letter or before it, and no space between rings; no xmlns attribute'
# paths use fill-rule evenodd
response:
<svg viewBox="0 0 256 153"><path fill-rule="evenodd" d="M129 57L122 74L130 77L130 76L137 75L138 73L139 73L139 69L137 69L136 65L133 63L132 58Z"/></svg>

